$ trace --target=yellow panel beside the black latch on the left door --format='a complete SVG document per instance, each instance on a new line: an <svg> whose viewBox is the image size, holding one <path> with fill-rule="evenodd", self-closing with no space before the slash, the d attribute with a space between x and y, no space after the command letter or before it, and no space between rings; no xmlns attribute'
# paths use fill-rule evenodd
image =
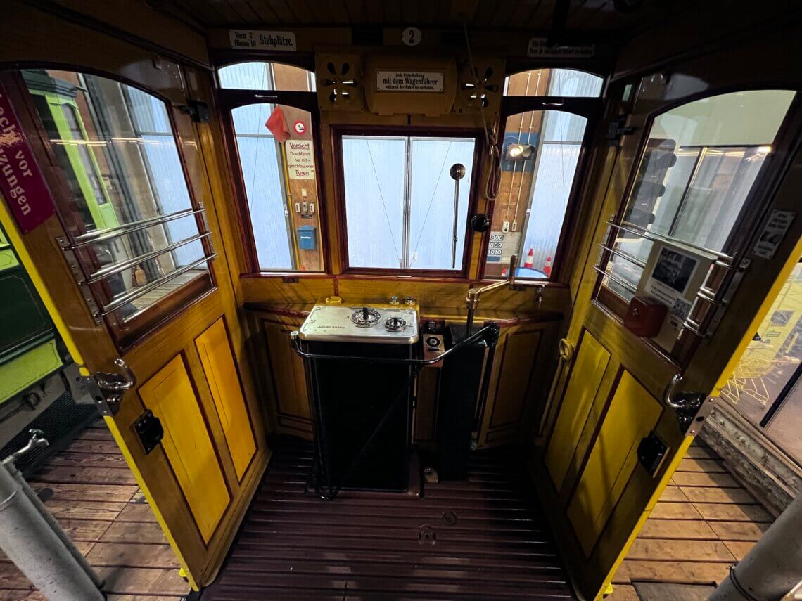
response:
<svg viewBox="0 0 802 601"><path fill-rule="evenodd" d="M161 421L164 453L209 542L230 497L184 358L176 355L140 386L140 397Z"/></svg>

